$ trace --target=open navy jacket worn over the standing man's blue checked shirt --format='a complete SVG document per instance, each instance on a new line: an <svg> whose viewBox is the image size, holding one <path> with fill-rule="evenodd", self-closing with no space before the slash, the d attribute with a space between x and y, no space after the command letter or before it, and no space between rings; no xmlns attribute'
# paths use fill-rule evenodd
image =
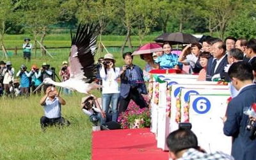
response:
<svg viewBox="0 0 256 160"><path fill-rule="evenodd" d="M138 84L138 92L139 93L143 93L143 94L147 94L147 87L144 83L144 79L143 79L143 71L141 70L140 67L133 65L136 74L139 78L140 83ZM130 93L130 89L131 89L131 82L130 82L130 76L129 76L129 71L125 70L124 74L122 74L121 76L121 84L120 84L120 96L123 98L126 98L129 93Z"/></svg>

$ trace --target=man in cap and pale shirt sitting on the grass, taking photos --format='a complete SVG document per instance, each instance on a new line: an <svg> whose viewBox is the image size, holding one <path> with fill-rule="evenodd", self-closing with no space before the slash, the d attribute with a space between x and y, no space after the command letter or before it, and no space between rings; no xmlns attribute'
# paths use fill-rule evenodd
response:
<svg viewBox="0 0 256 160"><path fill-rule="evenodd" d="M44 107L45 113L45 115L40 119L40 124L43 131L45 131L45 128L49 125L70 124L68 120L65 120L65 118L61 116L61 105L65 105L66 101L60 97L55 87L47 87L46 94L40 100L40 104Z"/></svg>

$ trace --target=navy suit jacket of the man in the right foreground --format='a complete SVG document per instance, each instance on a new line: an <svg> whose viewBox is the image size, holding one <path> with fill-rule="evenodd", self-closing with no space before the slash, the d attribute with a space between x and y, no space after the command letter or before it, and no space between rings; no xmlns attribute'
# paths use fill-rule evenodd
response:
<svg viewBox="0 0 256 160"><path fill-rule="evenodd" d="M256 159L256 140L250 140L250 131L246 130L248 116L244 115L243 109L256 102L256 84L246 86L234 97L227 107L227 120L223 132L232 136L231 155L236 160Z"/></svg>

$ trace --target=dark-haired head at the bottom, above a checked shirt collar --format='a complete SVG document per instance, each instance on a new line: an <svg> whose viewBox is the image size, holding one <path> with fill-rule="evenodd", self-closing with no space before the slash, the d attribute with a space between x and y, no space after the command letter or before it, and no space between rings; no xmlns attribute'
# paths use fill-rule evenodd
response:
<svg viewBox="0 0 256 160"><path fill-rule="evenodd" d="M178 129L171 132L166 139L167 146L175 154L188 148L198 148L198 141L190 129Z"/></svg>

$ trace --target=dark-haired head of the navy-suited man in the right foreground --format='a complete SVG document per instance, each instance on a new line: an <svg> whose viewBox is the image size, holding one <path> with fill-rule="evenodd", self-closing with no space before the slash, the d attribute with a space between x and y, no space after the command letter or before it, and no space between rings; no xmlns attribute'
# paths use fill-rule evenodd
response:
<svg viewBox="0 0 256 160"><path fill-rule="evenodd" d="M252 66L245 61L235 62L228 69L228 76L240 81L253 80Z"/></svg>

